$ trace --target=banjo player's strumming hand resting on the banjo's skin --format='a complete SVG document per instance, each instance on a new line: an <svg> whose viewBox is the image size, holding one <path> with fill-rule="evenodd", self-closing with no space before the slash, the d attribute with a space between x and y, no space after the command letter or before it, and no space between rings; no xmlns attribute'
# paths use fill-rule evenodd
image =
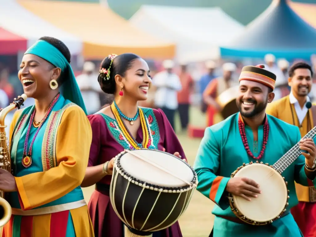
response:
<svg viewBox="0 0 316 237"><path fill-rule="evenodd" d="M258 197L261 193L259 185L248 178L234 177L228 180L226 185L226 191L236 196L245 198L251 201L251 197Z"/></svg>

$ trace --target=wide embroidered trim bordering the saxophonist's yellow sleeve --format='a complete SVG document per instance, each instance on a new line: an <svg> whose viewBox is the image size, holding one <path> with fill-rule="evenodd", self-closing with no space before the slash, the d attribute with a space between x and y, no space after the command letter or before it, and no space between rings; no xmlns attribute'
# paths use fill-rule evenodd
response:
<svg viewBox="0 0 316 237"><path fill-rule="evenodd" d="M52 111L49 116L42 143L43 171L47 171L53 167L58 166L56 155L58 127L61 123L61 119L65 110L70 106L76 106L76 104L69 103L58 111Z"/></svg>

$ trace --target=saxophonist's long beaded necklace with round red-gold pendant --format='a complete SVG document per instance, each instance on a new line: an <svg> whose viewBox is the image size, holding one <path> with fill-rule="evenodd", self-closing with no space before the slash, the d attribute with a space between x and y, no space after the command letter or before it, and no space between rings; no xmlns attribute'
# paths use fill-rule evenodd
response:
<svg viewBox="0 0 316 237"><path fill-rule="evenodd" d="M35 141L35 138L37 136L37 134L39 133L42 125L44 124L45 120L47 119L49 113L52 111L52 108L54 107L54 105L56 104L57 100L59 98L59 93L57 94L57 96L54 98L54 100L52 101L52 103L50 104L47 112L45 113L44 115L44 118L42 119L34 137L33 137L33 140L30 144L30 148L28 149L28 153L27 153L27 143L28 143L28 138L29 138L29 135L30 135L30 131L31 131L31 126L33 124L33 121L34 121L34 117L35 117L35 112L36 112L36 108L34 108L34 111L33 113L31 114L31 117L30 117L30 121L29 121L29 124L28 124L28 128L27 128L27 133L26 133L26 137L25 137L25 142L24 142L24 150L23 150L23 157L22 157L22 165L25 167L25 168L28 168L32 165L32 147L33 147L33 143Z"/></svg>

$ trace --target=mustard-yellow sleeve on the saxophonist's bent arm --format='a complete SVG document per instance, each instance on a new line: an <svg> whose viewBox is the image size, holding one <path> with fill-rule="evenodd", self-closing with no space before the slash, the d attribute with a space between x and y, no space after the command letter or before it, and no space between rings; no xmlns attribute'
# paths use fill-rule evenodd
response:
<svg viewBox="0 0 316 237"><path fill-rule="evenodd" d="M79 186L88 166L92 141L89 120L79 106L70 106L62 116L56 142L57 167L15 177L23 210L52 202Z"/></svg>

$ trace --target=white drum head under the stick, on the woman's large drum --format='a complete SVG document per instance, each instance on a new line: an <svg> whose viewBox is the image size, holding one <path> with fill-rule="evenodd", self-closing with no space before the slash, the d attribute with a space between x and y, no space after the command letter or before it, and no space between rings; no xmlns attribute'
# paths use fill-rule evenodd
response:
<svg viewBox="0 0 316 237"><path fill-rule="evenodd" d="M188 182L194 181L195 172L191 166L185 161L163 151L140 149L134 150L135 152L157 165L169 170L176 176L184 179ZM148 184L162 186L162 187L183 187L187 186L187 183L174 177L173 175L166 173L161 168L156 167L146 161L139 159L138 157L125 153L119 158L119 163L126 173ZM194 181L195 182L195 181Z"/></svg>

